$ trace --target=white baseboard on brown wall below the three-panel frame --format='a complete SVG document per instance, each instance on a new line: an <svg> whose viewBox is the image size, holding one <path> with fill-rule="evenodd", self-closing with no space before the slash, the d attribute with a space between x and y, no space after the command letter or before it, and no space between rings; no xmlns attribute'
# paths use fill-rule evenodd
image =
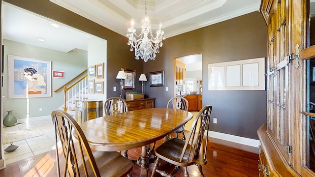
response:
<svg viewBox="0 0 315 177"><path fill-rule="evenodd" d="M221 139L221 140L234 142L234 143L251 146L255 148L258 148L259 146L259 140L254 140L251 138L245 138L245 137L240 137L240 136L235 136L235 135L230 135L230 134L225 134L225 133L220 133L220 132L215 132L215 131L209 131L208 135L211 138Z"/></svg>

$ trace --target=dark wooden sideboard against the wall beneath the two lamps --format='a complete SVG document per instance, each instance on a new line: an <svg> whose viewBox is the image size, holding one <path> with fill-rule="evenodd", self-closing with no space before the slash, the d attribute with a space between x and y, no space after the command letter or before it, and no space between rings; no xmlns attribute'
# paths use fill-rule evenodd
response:
<svg viewBox="0 0 315 177"><path fill-rule="evenodd" d="M137 100L126 100L128 111L155 108L156 98L144 98Z"/></svg>

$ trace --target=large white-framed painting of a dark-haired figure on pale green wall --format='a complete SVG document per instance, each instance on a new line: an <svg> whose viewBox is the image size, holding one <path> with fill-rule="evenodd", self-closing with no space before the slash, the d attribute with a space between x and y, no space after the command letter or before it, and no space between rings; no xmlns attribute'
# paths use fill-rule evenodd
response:
<svg viewBox="0 0 315 177"><path fill-rule="evenodd" d="M51 97L51 61L8 56L9 98Z"/></svg>

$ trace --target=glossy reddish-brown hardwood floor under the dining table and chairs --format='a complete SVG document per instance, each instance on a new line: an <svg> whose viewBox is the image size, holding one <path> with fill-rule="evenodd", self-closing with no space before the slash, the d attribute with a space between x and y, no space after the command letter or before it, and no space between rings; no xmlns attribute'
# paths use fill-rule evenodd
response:
<svg viewBox="0 0 315 177"><path fill-rule="evenodd" d="M157 142L160 144L161 141ZM129 159L141 156L141 148L128 150ZM0 177L57 177L55 150L36 155L32 158L21 160L7 165L0 170ZM62 156L60 156L62 158ZM215 143L208 143L207 165L203 166L205 177L258 177L258 154L249 151L230 148ZM151 177L153 163L149 165L148 176ZM174 166L160 161L159 169L172 171ZM200 177L197 166L188 167L189 177ZM133 177L140 177L140 167L133 166ZM174 177L183 177L184 169L181 168ZM160 177L155 174L155 177Z"/></svg>

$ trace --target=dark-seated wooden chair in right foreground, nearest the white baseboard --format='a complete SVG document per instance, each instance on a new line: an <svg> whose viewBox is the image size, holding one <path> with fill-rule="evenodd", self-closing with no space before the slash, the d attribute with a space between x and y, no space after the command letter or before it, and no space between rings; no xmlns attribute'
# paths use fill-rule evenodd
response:
<svg viewBox="0 0 315 177"><path fill-rule="evenodd" d="M151 177L154 176L155 172L158 172L163 177L172 177L177 172L178 168L175 168L171 174L158 170L158 161L160 159L175 166L184 167L184 177L188 177L187 167L195 164L198 166L201 177L204 177L202 165L207 163L206 152L211 111L212 106L210 105L204 106L199 111L191 125L188 140L184 141L173 138L164 142L156 149L157 159ZM207 133L205 135L206 130ZM204 136L205 138L203 138Z"/></svg>

